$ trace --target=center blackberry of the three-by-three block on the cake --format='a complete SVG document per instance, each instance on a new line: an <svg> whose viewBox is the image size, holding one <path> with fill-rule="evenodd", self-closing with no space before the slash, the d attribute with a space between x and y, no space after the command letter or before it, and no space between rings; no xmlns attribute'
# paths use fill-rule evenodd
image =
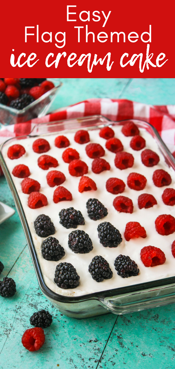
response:
<svg viewBox="0 0 175 369"><path fill-rule="evenodd" d="M72 231L69 234L68 245L75 254L88 254L93 249L89 235L80 230Z"/></svg>

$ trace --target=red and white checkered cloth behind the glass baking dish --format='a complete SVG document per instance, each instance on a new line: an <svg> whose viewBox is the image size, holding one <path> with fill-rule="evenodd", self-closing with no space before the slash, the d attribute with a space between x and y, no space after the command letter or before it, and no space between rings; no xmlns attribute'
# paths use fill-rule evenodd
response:
<svg viewBox="0 0 175 369"><path fill-rule="evenodd" d="M25 123L4 126L0 143L15 136L28 135L35 124L101 114L113 120L141 119L156 127L171 152L175 151L175 105L153 106L124 99L88 99Z"/></svg>

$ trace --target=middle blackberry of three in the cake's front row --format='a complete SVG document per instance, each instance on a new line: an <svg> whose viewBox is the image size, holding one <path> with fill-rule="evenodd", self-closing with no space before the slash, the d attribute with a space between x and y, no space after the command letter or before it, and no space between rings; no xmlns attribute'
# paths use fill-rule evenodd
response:
<svg viewBox="0 0 175 369"><path fill-rule="evenodd" d="M103 282L104 279L112 278L112 270L108 262L102 256L95 256L89 265L89 273L96 282Z"/></svg>

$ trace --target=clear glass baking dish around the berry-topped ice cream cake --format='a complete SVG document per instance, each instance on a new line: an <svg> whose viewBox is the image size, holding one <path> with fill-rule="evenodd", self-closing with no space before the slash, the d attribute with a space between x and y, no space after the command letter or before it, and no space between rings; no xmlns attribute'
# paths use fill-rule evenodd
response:
<svg viewBox="0 0 175 369"><path fill-rule="evenodd" d="M157 130L149 123L146 123L144 121L129 121L133 121L133 123L135 123L138 128L144 128L147 132L151 134L151 136L156 140L167 165L175 170L175 159L169 152L167 146L162 141ZM63 134L63 130L64 132L75 132L80 127L88 128L88 130L94 130L107 125L114 126L123 125L125 123L126 120L112 122L101 115L94 115L91 117L82 117L77 119L39 124L33 128L31 134L27 137L46 137L47 135L55 133L59 134L61 133L61 131L61 134ZM18 140L23 138L25 137L18 137ZM47 287L43 279L40 263L35 250L32 235L29 230L29 225L26 221L25 213L22 208L21 201L14 186L10 172L8 171L6 162L3 158L4 146L9 144L9 142L13 143L14 140L16 140L16 138L12 138L0 146L0 164L14 197L15 205L17 207L19 218L21 220L26 240L29 246L29 251L31 253L39 286L47 299L49 299L54 304L54 306L56 306L61 311L61 313L77 319L92 317L94 315L105 314L108 312L114 314L125 314L175 302L175 276L153 280L151 282L85 294L78 297L61 296L53 292L51 289L49 289L49 287Z"/></svg>

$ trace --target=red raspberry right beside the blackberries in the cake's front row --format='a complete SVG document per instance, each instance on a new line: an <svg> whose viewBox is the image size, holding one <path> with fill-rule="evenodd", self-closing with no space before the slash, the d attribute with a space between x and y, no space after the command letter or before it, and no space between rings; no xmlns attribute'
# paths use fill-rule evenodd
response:
<svg viewBox="0 0 175 369"><path fill-rule="evenodd" d="M156 266L165 263L165 254L158 247L154 246L145 246L140 251L140 259L144 266Z"/></svg>

